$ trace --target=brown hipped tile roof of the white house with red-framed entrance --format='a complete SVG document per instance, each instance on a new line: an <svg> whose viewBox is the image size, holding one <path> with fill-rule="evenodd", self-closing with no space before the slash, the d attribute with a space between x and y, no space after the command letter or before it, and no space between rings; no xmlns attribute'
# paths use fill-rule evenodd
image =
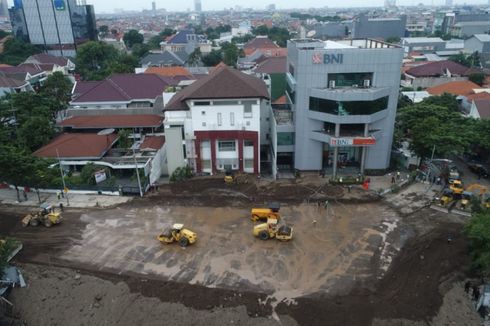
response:
<svg viewBox="0 0 490 326"><path fill-rule="evenodd" d="M195 81L175 94L165 107L169 110L188 110L189 99L269 98L265 83L228 66L216 68L208 76Z"/></svg>

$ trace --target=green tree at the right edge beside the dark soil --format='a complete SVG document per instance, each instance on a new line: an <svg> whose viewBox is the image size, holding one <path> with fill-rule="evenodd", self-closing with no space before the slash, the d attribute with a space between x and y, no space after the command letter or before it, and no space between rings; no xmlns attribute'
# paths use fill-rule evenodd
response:
<svg viewBox="0 0 490 326"><path fill-rule="evenodd" d="M490 210L474 214L464 228L473 268L490 275Z"/></svg>

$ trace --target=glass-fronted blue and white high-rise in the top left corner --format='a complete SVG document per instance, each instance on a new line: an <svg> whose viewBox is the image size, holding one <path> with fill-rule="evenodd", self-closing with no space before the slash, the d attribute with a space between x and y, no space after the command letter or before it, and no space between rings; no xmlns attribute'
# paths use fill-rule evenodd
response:
<svg viewBox="0 0 490 326"><path fill-rule="evenodd" d="M97 39L92 5L78 0L14 0L10 21L15 37L42 45L52 55L75 56L77 46Z"/></svg>

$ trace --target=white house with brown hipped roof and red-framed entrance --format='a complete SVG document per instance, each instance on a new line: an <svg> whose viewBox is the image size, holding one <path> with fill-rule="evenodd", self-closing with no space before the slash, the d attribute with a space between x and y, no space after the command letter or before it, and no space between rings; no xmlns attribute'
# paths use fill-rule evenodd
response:
<svg viewBox="0 0 490 326"><path fill-rule="evenodd" d="M269 100L263 80L226 65L176 93L164 107L169 173L184 165L196 173L260 173Z"/></svg>

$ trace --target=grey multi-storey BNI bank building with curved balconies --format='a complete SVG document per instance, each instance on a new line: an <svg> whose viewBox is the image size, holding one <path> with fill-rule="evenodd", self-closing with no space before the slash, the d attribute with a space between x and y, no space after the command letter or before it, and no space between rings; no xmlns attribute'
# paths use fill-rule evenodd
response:
<svg viewBox="0 0 490 326"><path fill-rule="evenodd" d="M288 42L296 169L336 177L389 167L402 59L401 47L370 39Z"/></svg>

